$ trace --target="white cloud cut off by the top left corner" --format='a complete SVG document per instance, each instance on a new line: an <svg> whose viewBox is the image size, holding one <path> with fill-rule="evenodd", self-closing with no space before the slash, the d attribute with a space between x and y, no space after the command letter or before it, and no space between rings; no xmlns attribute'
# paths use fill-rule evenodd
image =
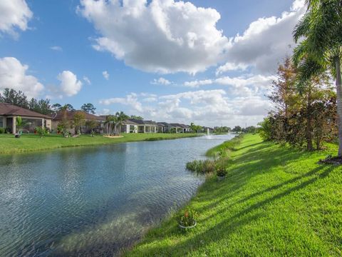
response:
<svg viewBox="0 0 342 257"><path fill-rule="evenodd" d="M0 1L0 32L18 36L16 29L26 31L33 13L25 0Z"/></svg>

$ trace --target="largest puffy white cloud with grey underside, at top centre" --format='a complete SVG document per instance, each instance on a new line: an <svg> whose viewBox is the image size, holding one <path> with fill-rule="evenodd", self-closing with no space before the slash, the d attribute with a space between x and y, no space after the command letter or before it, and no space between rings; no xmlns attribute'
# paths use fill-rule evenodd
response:
<svg viewBox="0 0 342 257"><path fill-rule="evenodd" d="M224 58L229 40L215 9L174 0L81 0L78 13L102 35L94 49L149 72L195 74Z"/></svg>

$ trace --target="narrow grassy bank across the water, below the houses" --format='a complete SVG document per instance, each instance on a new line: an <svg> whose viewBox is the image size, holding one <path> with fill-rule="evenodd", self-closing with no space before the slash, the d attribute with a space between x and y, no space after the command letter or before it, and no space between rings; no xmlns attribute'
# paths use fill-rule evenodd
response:
<svg viewBox="0 0 342 257"><path fill-rule="evenodd" d="M94 146L108 143L124 143L132 141L154 141L175 138L199 136L193 133L123 133L122 138L105 138L101 135L90 137L82 135L78 138L63 138L61 135L51 134L40 138L34 134L23 134L21 138L14 138L11 134L0 134L0 153L20 153L26 151L41 151L53 148Z"/></svg>

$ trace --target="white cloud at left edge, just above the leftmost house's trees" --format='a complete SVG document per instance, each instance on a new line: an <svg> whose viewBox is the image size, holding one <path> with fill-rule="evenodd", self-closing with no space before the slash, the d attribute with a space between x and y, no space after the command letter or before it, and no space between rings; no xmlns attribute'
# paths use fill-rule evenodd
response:
<svg viewBox="0 0 342 257"><path fill-rule="evenodd" d="M35 76L27 74L28 66L14 57L0 59L0 89L23 91L29 98L36 97L44 89Z"/></svg>

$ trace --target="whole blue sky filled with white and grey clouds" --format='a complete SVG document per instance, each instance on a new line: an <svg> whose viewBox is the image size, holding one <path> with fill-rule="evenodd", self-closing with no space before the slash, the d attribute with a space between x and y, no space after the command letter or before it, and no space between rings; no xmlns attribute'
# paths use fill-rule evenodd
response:
<svg viewBox="0 0 342 257"><path fill-rule="evenodd" d="M252 126L304 0L2 0L0 90L97 114Z"/></svg>

